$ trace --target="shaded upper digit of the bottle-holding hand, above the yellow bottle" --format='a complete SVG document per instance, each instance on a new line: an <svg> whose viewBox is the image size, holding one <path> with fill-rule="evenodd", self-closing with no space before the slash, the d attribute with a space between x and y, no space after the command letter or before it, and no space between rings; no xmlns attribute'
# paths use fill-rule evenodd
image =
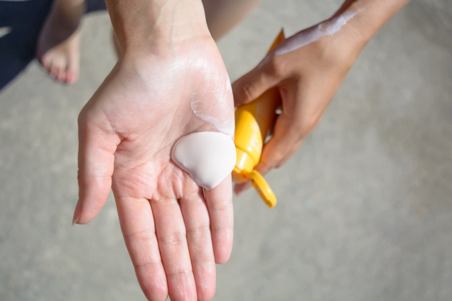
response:
<svg viewBox="0 0 452 301"><path fill-rule="evenodd" d="M241 106L257 99L262 93L279 83L276 58L264 58L261 63L232 84L234 105Z"/></svg>

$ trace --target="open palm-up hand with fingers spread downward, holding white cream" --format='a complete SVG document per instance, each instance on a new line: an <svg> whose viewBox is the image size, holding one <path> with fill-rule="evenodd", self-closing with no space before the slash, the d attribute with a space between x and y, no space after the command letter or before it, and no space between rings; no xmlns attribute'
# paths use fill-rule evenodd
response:
<svg viewBox="0 0 452 301"><path fill-rule="evenodd" d="M74 218L91 221L112 187L146 297L210 300L215 263L232 250L231 178L204 196L170 153L188 133L232 134L232 91L207 31L168 45L158 53L124 51L80 113Z"/></svg>

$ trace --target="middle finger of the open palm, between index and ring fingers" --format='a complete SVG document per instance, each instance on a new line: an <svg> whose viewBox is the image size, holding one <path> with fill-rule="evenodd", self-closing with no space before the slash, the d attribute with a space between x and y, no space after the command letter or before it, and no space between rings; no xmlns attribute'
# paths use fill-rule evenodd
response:
<svg viewBox="0 0 452 301"><path fill-rule="evenodd" d="M171 300L196 300L185 224L176 199L151 201L158 248L165 268Z"/></svg>

